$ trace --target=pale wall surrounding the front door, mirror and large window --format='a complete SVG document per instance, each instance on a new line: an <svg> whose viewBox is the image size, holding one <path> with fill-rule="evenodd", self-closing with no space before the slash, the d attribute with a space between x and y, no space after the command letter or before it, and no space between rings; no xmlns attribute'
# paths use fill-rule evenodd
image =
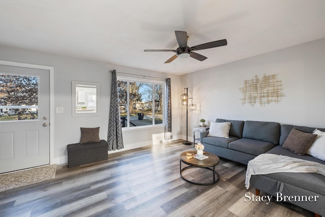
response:
<svg viewBox="0 0 325 217"><path fill-rule="evenodd" d="M107 140L111 89L110 70L138 75L171 78L173 106L173 139L180 136L178 106L180 76L169 75L98 61L42 53L0 45L0 59L20 63L54 67L54 108L63 107L63 113L54 114L54 162L68 162L67 145L78 143L80 127L100 127L100 139ZM72 81L100 83L100 115L72 116ZM156 144L164 140L164 127L123 132L124 149Z"/></svg>

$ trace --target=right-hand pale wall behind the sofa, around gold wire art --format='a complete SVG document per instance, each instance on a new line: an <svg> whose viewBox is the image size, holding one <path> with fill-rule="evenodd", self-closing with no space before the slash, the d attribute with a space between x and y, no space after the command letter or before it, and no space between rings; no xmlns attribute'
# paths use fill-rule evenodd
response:
<svg viewBox="0 0 325 217"><path fill-rule="evenodd" d="M324 128L324 57L325 39L321 39L183 75L182 85L189 88L189 96L199 108L189 112L188 132L192 125L199 125L200 118L275 121ZM278 75L285 97L278 104L265 107L243 106L239 91L243 81L255 75L261 78L263 74ZM186 135L185 108L181 112L182 135Z"/></svg>

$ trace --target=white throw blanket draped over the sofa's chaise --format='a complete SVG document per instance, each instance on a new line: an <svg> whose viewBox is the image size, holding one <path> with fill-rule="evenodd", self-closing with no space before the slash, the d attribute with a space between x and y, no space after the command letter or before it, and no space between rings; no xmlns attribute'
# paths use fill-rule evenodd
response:
<svg viewBox="0 0 325 217"><path fill-rule="evenodd" d="M318 173L325 176L325 165L278 154L259 154L259 156L248 162L245 180L246 189L249 188L249 180L252 175L277 172Z"/></svg>

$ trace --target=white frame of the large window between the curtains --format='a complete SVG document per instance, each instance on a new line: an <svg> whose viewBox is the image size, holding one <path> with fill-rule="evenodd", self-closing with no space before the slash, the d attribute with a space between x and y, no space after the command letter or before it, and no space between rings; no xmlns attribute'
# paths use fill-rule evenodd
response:
<svg viewBox="0 0 325 217"><path fill-rule="evenodd" d="M141 83L150 83L154 88L154 85L162 85L163 86L163 123L155 123L155 110L154 110L154 91L152 91L152 124L151 125L144 125L144 126L134 126L130 127L129 124L129 111L127 110L127 125L122 127L122 131L129 131L129 130L139 130L145 128L157 128L157 127L165 127L165 116L166 116L166 81L164 80L154 80L154 79L143 79L143 78L136 78L136 77L129 77L129 76L116 76L117 81L126 81L127 82L127 104L126 107L129 105L129 82L141 82Z"/></svg>

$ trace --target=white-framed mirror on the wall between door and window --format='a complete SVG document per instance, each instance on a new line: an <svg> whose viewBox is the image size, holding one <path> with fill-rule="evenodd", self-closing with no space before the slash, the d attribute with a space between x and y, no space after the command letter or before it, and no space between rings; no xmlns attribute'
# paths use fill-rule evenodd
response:
<svg viewBox="0 0 325 217"><path fill-rule="evenodd" d="M72 116L100 114L100 84L72 82Z"/></svg>

